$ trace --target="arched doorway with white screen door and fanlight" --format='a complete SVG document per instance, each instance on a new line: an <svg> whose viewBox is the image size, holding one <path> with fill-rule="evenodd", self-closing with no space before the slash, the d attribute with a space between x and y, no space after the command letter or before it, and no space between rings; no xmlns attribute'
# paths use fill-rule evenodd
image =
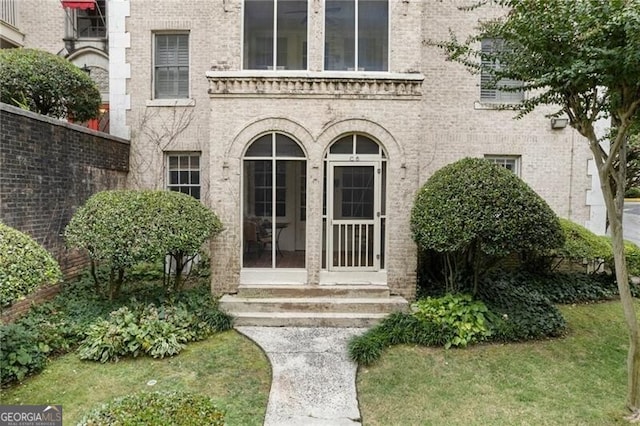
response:
<svg viewBox="0 0 640 426"><path fill-rule="evenodd" d="M362 134L336 140L324 162L322 269L385 268L387 158Z"/></svg>

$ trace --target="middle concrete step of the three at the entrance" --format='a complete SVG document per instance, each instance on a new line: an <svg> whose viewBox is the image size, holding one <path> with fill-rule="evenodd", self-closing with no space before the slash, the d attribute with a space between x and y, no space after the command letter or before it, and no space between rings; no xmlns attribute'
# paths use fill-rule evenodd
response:
<svg viewBox="0 0 640 426"><path fill-rule="evenodd" d="M227 312L347 312L390 313L403 310L407 301L400 296L379 297L238 297L225 295L220 307Z"/></svg>

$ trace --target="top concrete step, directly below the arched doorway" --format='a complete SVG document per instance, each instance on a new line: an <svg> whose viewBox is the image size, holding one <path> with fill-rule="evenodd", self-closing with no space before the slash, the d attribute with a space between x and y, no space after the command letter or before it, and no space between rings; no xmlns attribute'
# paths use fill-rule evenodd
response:
<svg viewBox="0 0 640 426"><path fill-rule="evenodd" d="M387 298L389 287L376 284L291 285L241 284L238 297L368 297Z"/></svg>

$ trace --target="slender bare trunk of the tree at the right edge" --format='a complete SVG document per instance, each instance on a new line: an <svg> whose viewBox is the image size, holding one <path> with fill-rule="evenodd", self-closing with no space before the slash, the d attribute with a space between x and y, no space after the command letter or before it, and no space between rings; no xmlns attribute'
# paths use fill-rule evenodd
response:
<svg viewBox="0 0 640 426"><path fill-rule="evenodd" d="M622 153L621 156L624 156L624 153ZM620 162L622 163L623 161L625 161L625 159L621 158ZM640 410L640 333L624 255L624 238L622 234L624 170L622 170L622 173L618 173L622 176L616 176L617 183L615 193L611 182L613 181L612 173L616 173L616 171L601 170L600 165L598 165L598 171L611 229L611 245L613 248L613 260L616 269L616 281L620 293L620 302L622 303L624 318L629 332L627 407L631 411L637 412Z"/></svg>

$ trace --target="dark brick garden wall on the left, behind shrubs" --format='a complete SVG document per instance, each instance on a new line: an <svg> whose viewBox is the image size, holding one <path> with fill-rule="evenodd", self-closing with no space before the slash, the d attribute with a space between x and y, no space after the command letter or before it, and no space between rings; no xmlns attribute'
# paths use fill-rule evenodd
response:
<svg viewBox="0 0 640 426"><path fill-rule="evenodd" d="M51 252L65 276L86 259L62 234L96 192L124 188L129 142L0 103L0 220Z"/></svg>

